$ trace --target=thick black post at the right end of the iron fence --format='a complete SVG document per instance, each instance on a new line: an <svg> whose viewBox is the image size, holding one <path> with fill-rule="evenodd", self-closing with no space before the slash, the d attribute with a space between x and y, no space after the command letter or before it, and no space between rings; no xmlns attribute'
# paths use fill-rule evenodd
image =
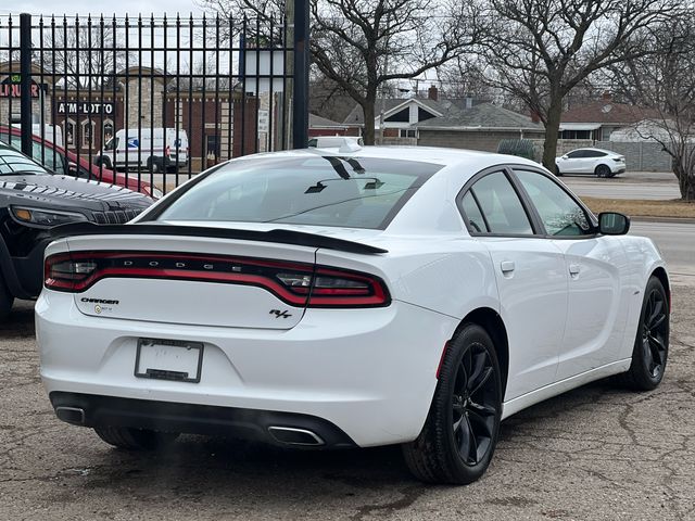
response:
<svg viewBox="0 0 695 521"><path fill-rule="evenodd" d="M294 92L292 147L308 144L308 0L294 1Z"/></svg>

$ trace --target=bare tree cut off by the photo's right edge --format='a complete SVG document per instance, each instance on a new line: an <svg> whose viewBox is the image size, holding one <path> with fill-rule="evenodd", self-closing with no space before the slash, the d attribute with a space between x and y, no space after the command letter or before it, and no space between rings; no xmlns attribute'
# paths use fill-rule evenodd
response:
<svg viewBox="0 0 695 521"><path fill-rule="evenodd" d="M671 20L644 41L656 52L612 66L614 88L654 116L632 129L672 158L681 198L695 201L695 10Z"/></svg>

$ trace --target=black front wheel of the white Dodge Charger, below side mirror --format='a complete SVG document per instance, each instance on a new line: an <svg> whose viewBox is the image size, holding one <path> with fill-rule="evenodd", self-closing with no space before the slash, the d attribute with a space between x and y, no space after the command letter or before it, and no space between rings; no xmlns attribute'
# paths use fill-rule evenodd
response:
<svg viewBox="0 0 695 521"><path fill-rule="evenodd" d="M634 391L656 389L669 354L669 298L661 281L652 277L644 290L632 363L621 381Z"/></svg>

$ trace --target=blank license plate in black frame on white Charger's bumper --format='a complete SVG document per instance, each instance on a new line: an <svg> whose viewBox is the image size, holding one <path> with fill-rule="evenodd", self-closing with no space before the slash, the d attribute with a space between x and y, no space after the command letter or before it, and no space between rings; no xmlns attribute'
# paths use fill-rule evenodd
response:
<svg viewBox="0 0 695 521"><path fill-rule="evenodd" d="M202 367L202 342L138 339L135 357L137 378L199 383Z"/></svg>

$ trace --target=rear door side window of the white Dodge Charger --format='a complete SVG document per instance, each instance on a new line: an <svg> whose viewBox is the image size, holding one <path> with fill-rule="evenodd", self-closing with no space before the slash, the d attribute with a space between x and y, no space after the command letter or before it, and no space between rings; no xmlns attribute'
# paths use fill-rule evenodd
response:
<svg viewBox="0 0 695 521"><path fill-rule="evenodd" d="M468 193L471 196L466 199ZM484 176L470 187L468 193L464 196L462 205L471 226L475 221L482 232L490 233L533 234L523 205L504 173L495 171ZM478 204L473 206L471 203Z"/></svg>

